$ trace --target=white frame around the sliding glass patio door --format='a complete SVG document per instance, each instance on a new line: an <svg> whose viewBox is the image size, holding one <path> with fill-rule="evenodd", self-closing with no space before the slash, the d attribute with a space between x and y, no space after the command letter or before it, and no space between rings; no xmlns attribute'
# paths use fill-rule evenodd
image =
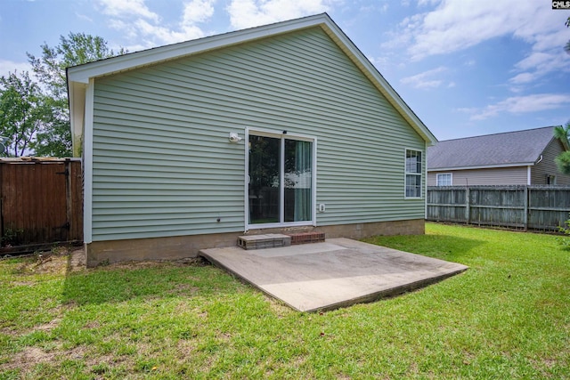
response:
<svg viewBox="0 0 570 380"><path fill-rule="evenodd" d="M244 200L245 200L245 231L247 232L248 230L260 230L260 229L266 229L266 228L285 228L285 227L295 227L295 226L308 226L308 225L313 225L316 227L317 225L317 209L316 209L316 199L317 199L317 138L314 136L309 136L309 135L305 135L305 134L299 134L299 133L290 133L289 131L286 133L283 133L285 131L273 131L273 130L268 130L268 129L262 129L262 128L246 128L245 130L245 175L244 175L244 180L245 180L245 186L244 186ZM313 171L313 178L311 179L311 186L312 186L312 190L311 190L311 219L310 221L303 221L303 222L276 222L276 223L256 223L256 224L249 224L249 149L248 149L248 143L249 143L249 135L253 134L256 136L265 136L265 137L273 137L276 139L281 139L281 169L280 169L280 175L281 175L281 179L280 179L280 183L283 183L283 176L284 176L284 165L285 165L285 139L289 139L289 140L299 140L299 141L310 141L313 142L313 162L312 162L312 167L311 170ZM281 186L281 193L284 191L283 187ZM281 194L281 199L282 199L282 194ZM283 205L280 205L280 220L282 221L283 218L283 213L284 213L284 209L283 209Z"/></svg>

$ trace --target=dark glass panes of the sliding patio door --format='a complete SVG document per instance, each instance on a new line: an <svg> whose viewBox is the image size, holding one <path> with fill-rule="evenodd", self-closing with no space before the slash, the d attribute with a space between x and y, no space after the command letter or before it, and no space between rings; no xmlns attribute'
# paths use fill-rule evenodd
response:
<svg viewBox="0 0 570 380"><path fill-rule="evenodd" d="M314 143L285 136L249 135L249 224L313 220Z"/></svg>

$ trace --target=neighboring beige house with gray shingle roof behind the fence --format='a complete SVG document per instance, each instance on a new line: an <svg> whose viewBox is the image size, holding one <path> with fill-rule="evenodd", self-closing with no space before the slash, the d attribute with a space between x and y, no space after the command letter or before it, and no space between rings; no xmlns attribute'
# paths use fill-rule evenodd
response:
<svg viewBox="0 0 570 380"><path fill-rule="evenodd" d="M428 149L428 186L570 184L554 161L565 150L554 126L439 141Z"/></svg>

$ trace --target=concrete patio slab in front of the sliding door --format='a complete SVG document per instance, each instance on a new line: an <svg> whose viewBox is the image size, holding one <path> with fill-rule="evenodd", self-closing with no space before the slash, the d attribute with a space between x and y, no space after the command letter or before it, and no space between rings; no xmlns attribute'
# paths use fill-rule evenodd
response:
<svg viewBox="0 0 570 380"><path fill-rule="evenodd" d="M200 255L298 311L326 311L425 287L468 269L351 239Z"/></svg>

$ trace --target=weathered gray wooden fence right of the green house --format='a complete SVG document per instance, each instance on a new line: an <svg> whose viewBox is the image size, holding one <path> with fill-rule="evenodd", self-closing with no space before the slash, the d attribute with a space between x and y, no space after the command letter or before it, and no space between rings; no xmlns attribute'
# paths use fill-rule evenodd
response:
<svg viewBox="0 0 570 380"><path fill-rule="evenodd" d="M569 214L568 186L428 187L428 221L558 230Z"/></svg>

